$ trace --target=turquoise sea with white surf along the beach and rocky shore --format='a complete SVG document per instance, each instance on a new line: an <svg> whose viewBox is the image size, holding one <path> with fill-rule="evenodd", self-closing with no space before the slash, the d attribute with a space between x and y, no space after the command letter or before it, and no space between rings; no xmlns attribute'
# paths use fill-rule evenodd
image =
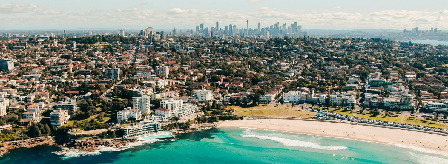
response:
<svg viewBox="0 0 448 164"><path fill-rule="evenodd" d="M0 164L447 164L448 156L392 144L246 128L212 128L97 155L66 157L55 146L19 148ZM76 153L74 153L76 155ZM333 156L334 154L334 156ZM73 154L71 154L73 156ZM353 160L352 160L353 157Z"/></svg>

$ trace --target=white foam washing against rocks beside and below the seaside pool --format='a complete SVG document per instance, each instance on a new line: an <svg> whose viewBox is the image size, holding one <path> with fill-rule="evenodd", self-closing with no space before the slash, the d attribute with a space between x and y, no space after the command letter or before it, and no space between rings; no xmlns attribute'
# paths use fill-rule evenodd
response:
<svg viewBox="0 0 448 164"><path fill-rule="evenodd" d="M159 141L163 141L162 139L148 139L148 140L144 140L144 141L137 141L134 143L129 143L127 145L123 145L121 147L104 147L104 146L100 146L97 149L95 149L95 151L81 151L80 149L70 149L69 151L55 151L53 153L57 154L57 155L63 155L63 158L71 158L71 157L79 157L79 156L92 156L92 155L98 155L101 154L101 152L107 152L107 151L121 151L121 150L125 150L125 149L129 149L132 147L136 147L139 145L144 145L147 143L154 143L154 142L159 142Z"/></svg>

